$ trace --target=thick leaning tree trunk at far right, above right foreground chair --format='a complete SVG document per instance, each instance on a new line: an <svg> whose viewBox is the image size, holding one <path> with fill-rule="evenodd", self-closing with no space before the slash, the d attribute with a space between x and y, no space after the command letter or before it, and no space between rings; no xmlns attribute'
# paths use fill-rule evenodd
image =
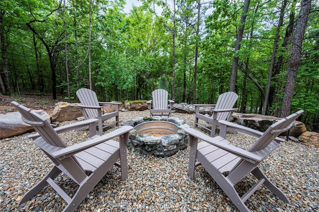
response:
<svg viewBox="0 0 319 212"><path fill-rule="evenodd" d="M290 113L296 87L297 72L301 61L302 44L307 26L308 15L311 7L311 0L302 0L300 14L297 20L296 32L293 38L290 61L287 73L285 95L282 104L280 117L286 117Z"/></svg>

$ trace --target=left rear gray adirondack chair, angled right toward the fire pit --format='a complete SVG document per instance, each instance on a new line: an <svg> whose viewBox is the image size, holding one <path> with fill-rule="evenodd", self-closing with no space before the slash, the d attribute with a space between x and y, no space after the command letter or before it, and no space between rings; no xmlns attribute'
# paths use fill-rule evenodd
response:
<svg viewBox="0 0 319 212"><path fill-rule="evenodd" d="M119 126L119 105L121 103L99 102L96 93L90 89L82 88L76 92L76 96L82 105L79 105L82 109L82 113L85 119L97 118L99 134L103 134L103 128L106 128L112 124ZM115 106L114 112L102 113L103 106L113 105ZM115 117L115 121L104 125L103 121Z"/></svg>

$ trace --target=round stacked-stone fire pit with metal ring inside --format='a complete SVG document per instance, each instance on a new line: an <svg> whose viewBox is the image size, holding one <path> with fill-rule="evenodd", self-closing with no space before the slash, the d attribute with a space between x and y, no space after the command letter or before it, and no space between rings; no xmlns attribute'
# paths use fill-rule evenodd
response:
<svg viewBox="0 0 319 212"><path fill-rule="evenodd" d="M171 156L187 147L183 120L175 117L141 117L122 125L134 126L128 146L146 155Z"/></svg>

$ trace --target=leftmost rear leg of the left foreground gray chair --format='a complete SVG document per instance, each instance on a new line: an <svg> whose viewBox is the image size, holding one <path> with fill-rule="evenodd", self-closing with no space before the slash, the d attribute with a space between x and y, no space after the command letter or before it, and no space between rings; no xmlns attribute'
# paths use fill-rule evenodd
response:
<svg viewBox="0 0 319 212"><path fill-rule="evenodd" d="M39 191L41 191L45 186L48 185L46 180L48 178L54 179L56 176L58 176L61 173L61 170L58 169L56 166L53 166L51 171L35 186L33 186L32 189L30 189L27 193L24 194L22 199L20 200L19 204L25 203L26 201L29 201L32 197L34 197Z"/></svg>

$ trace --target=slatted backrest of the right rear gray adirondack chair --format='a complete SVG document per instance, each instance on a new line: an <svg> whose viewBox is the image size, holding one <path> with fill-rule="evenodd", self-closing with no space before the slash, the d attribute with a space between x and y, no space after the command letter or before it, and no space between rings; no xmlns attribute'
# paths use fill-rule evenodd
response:
<svg viewBox="0 0 319 212"><path fill-rule="evenodd" d="M226 92L218 97L215 109L233 108L237 102L238 96L234 92ZM217 120L227 120L230 118L230 112L218 112Z"/></svg>

